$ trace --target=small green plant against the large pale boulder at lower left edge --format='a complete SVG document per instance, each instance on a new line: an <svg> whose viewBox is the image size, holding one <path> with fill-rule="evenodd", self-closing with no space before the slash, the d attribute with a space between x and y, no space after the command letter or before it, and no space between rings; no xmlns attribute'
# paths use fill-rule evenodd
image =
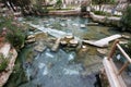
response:
<svg viewBox="0 0 131 87"><path fill-rule="evenodd" d="M3 54L0 54L0 72L7 69L8 63L9 61L3 57Z"/></svg>

